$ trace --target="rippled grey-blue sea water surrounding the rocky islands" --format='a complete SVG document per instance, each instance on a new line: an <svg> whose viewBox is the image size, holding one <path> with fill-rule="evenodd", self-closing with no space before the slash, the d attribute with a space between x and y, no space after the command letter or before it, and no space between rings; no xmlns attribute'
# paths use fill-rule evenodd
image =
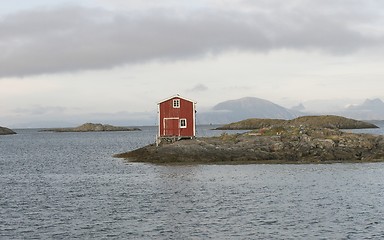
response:
<svg viewBox="0 0 384 240"><path fill-rule="evenodd" d="M0 136L0 239L384 238L384 163L132 164L111 156L155 128L17 132Z"/></svg>

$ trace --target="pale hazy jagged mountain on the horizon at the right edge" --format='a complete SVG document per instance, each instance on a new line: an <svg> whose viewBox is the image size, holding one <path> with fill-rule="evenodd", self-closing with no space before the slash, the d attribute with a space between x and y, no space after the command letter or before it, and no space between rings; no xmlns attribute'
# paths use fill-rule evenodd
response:
<svg viewBox="0 0 384 240"><path fill-rule="evenodd" d="M384 119L384 102L379 99L367 99L362 104L348 106L340 115L364 120Z"/></svg>

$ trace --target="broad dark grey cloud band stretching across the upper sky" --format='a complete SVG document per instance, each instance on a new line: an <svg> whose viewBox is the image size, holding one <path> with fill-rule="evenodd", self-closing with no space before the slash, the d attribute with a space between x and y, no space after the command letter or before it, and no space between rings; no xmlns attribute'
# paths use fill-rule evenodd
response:
<svg viewBox="0 0 384 240"><path fill-rule="evenodd" d="M66 7L3 16L0 78L107 69L227 50L289 48L345 54L384 42L382 35L359 29L378 24L378 13L372 9L357 11L358 2L364 6L365 1L352 1L352 6L341 0L324 2L260 1L260 7L248 1L249 11L207 9L184 15L164 9L113 12Z"/></svg>

